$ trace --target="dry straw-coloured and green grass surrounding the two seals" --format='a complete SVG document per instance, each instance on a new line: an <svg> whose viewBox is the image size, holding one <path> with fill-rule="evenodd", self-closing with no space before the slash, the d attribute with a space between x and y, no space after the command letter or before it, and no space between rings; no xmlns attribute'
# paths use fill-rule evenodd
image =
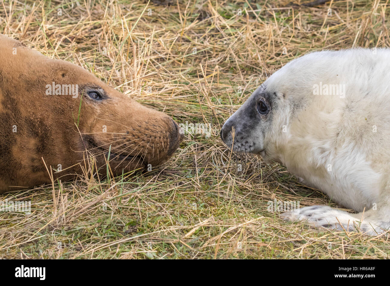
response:
<svg viewBox="0 0 390 286"><path fill-rule="evenodd" d="M2 33L178 123L211 123L213 134L187 135L172 160L146 174L0 195L32 202L28 216L0 213L0 258L387 258L387 237L318 230L268 212L275 198L337 206L280 165L236 162L219 137L266 72L317 49L389 47L387 2L1 2Z"/></svg>

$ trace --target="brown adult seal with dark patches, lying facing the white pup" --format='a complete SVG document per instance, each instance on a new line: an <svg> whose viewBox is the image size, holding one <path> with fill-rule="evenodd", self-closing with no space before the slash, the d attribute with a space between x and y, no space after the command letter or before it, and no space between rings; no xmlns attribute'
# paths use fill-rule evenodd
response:
<svg viewBox="0 0 390 286"><path fill-rule="evenodd" d="M114 174L155 167L183 139L177 124L162 112L73 63L51 60L4 35L0 123L0 193L20 189L11 186L49 183L44 163L63 170L53 172L54 178L71 179L90 155L95 168L106 166L109 157Z"/></svg>

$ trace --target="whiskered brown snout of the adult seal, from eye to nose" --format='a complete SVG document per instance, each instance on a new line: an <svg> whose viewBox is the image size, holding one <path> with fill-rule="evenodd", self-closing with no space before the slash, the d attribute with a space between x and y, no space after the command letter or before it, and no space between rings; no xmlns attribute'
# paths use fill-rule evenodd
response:
<svg viewBox="0 0 390 286"><path fill-rule="evenodd" d="M183 136L167 115L140 105L105 84L83 88L86 99L79 129L87 151L100 165L108 159L119 174L122 169L126 172L154 168L179 147ZM96 93L102 99L94 99Z"/></svg>

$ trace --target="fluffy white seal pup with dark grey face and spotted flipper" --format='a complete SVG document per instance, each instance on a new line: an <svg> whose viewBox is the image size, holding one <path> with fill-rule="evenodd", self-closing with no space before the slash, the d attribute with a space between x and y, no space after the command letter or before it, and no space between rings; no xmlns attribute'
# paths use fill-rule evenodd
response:
<svg viewBox="0 0 390 286"><path fill-rule="evenodd" d="M233 150L284 165L350 213L326 205L286 220L360 231L390 227L390 50L306 54L271 75L223 125Z"/></svg>

